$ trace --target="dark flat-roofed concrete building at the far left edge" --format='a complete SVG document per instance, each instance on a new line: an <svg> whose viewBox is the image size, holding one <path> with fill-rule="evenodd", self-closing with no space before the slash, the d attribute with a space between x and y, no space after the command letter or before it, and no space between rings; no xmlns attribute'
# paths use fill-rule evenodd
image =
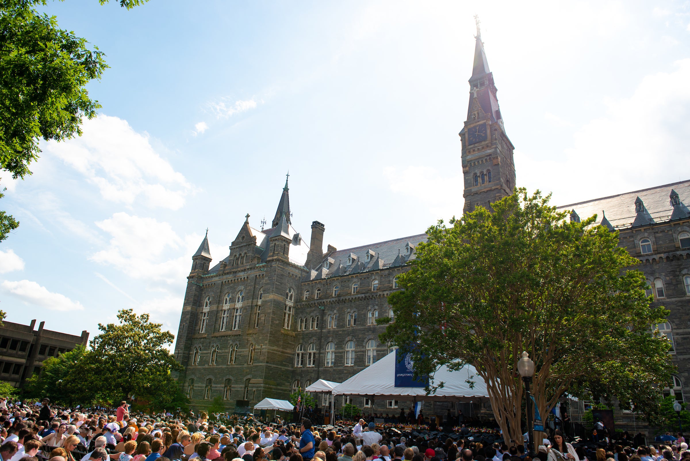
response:
<svg viewBox="0 0 690 461"><path fill-rule="evenodd" d="M34 330L36 320L28 325L15 324L5 320L0 326L0 380L21 387L23 381L33 373L40 373L43 360L57 357L59 353L75 349L77 344L86 346L88 331L81 336L60 333L43 328L46 322Z"/></svg>

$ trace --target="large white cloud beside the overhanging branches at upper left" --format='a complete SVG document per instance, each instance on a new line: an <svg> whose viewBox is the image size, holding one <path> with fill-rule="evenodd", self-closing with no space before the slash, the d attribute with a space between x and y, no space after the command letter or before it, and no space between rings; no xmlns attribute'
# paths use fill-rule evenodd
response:
<svg viewBox="0 0 690 461"><path fill-rule="evenodd" d="M131 205L177 210L192 186L126 120L99 115L83 121L83 135L49 141L44 152L55 155L95 184L104 199Z"/></svg>

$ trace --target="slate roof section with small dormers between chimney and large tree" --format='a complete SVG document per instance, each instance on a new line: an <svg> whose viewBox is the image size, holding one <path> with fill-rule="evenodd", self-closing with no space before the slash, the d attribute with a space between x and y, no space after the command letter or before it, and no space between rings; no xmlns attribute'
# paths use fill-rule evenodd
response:
<svg viewBox="0 0 690 461"><path fill-rule="evenodd" d="M426 242L426 234L411 235L410 237L334 251L331 255L328 255L328 258L324 258L324 262L326 262L326 259L331 261L331 267L326 270L322 262L322 264L319 264L311 271L311 279L350 275L375 271L386 267L401 266L410 259L414 259L414 248L420 242ZM406 246L411 247L409 253L406 251ZM366 260L367 253L370 255L368 261ZM373 256L371 256L371 253L374 253ZM348 257L353 257L349 265Z"/></svg>

